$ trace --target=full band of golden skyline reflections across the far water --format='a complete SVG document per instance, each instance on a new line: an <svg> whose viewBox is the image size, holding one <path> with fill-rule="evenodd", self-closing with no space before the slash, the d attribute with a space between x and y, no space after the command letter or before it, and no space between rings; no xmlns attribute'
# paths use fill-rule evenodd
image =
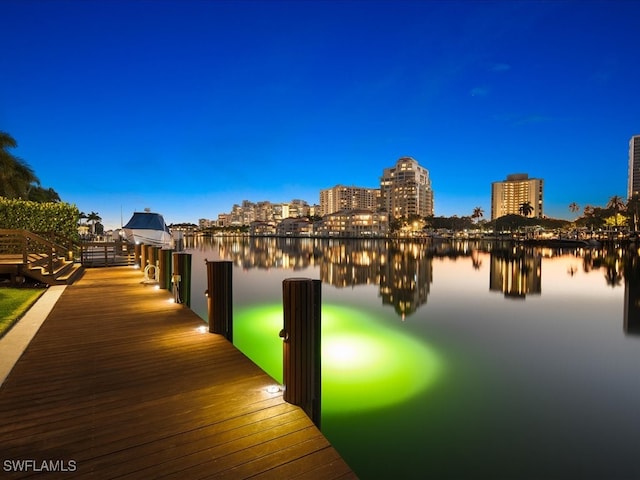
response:
<svg viewBox="0 0 640 480"><path fill-rule="evenodd" d="M215 250L221 259L244 269L304 270L316 267L323 283L337 288L374 285L383 305L405 319L427 304L433 260L470 261L475 271L487 271L490 291L506 298L542 295L545 259L574 258L567 279L582 272L602 271L606 285L625 288L625 332L638 333L640 266L636 250L618 246L546 248L482 240L397 241L334 240L273 237L194 238L188 248Z"/></svg>

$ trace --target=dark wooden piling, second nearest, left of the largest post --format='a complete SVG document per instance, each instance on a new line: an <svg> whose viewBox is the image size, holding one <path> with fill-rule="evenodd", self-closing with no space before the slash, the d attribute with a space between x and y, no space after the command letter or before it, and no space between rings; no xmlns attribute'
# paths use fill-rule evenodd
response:
<svg viewBox="0 0 640 480"><path fill-rule="evenodd" d="M233 263L228 261L206 261L206 263L209 332L224 335L227 340L233 342Z"/></svg>

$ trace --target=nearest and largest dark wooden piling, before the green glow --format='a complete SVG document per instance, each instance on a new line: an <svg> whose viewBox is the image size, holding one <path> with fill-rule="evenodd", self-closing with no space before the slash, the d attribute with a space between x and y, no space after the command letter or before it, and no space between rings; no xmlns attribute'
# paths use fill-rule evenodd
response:
<svg viewBox="0 0 640 480"><path fill-rule="evenodd" d="M300 406L320 428L321 282L288 278L282 282L286 402Z"/></svg>

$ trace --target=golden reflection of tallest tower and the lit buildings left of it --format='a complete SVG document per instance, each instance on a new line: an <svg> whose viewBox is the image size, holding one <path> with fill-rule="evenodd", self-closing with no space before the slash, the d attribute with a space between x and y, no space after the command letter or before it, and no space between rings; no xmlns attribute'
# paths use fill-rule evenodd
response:
<svg viewBox="0 0 640 480"><path fill-rule="evenodd" d="M402 319L427 302L434 255L471 255L471 249L457 245L366 239L196 237L189 248L215 248L220 258L243 269L315 266L322 282L337 288L376 285L382 303Z"/></svg>

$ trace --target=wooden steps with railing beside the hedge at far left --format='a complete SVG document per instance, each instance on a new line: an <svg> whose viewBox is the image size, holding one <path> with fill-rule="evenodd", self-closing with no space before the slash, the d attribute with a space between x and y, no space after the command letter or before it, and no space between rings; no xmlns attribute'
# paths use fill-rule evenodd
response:
<svg viewBox="0 0 640 480"><path fill-rule="evenodd" d="M83 271L73 249L26 230L0 229L0 274L12 283L24 277L48 285L69 285Z"/></svg>

